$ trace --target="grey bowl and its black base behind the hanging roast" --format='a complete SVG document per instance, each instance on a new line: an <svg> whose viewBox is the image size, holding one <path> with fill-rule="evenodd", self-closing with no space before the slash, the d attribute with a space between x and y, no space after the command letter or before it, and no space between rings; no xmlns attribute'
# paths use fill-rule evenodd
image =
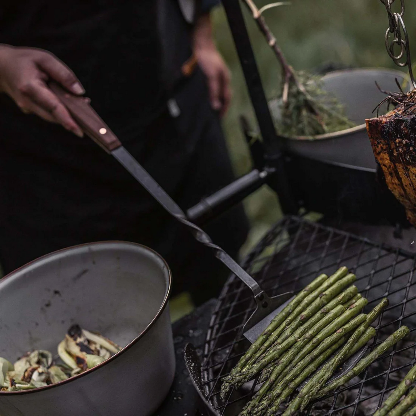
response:
<svg viewBox="0 0 416 416"><path fill-rule="evenodd" d="M306 137L282 137L287 177L301 205L343 220L376 223L387 219L406 224L404 209L387 190L366 132L365 119L385 95L396 90L405 74L391 69L346 69L322 77L323 88L344 104L357 126ZM278 116L277 103L272 113ZM387 107L381 107L381 113Z"/></svg>

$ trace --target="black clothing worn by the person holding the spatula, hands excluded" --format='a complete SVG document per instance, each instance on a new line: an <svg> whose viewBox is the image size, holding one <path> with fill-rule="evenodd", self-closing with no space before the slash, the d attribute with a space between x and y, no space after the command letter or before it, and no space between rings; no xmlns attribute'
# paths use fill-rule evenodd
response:
<svg viewBox="0 0 416 416"><path fill-rule="evenodd" d="M7 27L2 26L7 8L0 5L2 42L6 37L10 44L50 50L74 69L94 109L182 208L233 180L202 72L197 69L175 89L161 82L154 1L85 2L94 3L92 8L79 0L71 2L77 10L68 16L67 6L50 0L42 9L34 3L27 2L31 15L16 14L15 25L9 20ZM59 24L48 27L43 19L52 3L62 7L62 14L55 10ZM183 23L182 33L187 30ZM177 118L168 113L168 97L178 103ZM191 284L197 302L218 295L226 270L93 141L24 115L2 97L0 149L0 262L5 272L71 245L126 240L166 258L175 292ZM247 233L242 208L206 229L236 256Z"/></svg>

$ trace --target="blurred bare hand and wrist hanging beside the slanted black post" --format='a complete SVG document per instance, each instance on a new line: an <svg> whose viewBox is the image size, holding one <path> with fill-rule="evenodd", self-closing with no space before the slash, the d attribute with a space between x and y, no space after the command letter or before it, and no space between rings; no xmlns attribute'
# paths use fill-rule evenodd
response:
<svg viewBox="0 0 416 416"><path fill-rule="evenodd" d="M208 80L211 106L223 116L230 106L230 71L215 47L209 15L201 16L193 32L193 54Z"/></svg>

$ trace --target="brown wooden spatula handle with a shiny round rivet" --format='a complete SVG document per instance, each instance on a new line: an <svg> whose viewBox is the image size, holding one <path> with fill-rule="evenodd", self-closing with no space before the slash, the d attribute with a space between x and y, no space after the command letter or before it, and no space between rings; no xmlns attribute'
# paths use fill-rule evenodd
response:
<svg viewBox="0 0 416 416"><path fill-rule="evenodd" d="M82 130L107 153L121 146L119 139L89 105L87 98L73 95L53 81L50 82L49 87L67 107Z"/></svg>

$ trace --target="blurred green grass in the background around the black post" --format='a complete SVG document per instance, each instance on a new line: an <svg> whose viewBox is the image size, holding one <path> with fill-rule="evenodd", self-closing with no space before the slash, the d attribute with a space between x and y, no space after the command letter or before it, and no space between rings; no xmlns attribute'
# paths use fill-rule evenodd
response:
<svg viewBox="0 0 416 416"><path fill-rule="evenodd" d="M404 22L412 47L416 46L416 4L414 0L405 1ZM259 8L268 2L255 0ZM399 7L399 0L396 3L394 6ZM280 88L280 68L246 7L241 4L266 96L272 98ZM326 63L398 69L385 49L388 18L380 0L293 0L291 5L267 10L264 17L288 62L297 70L312 70ZM251 160L238 123L239 115L245 114L252 126L257 126L222 7L214 10L213 25L218 49L232 73L233 101L223 126L235 173L240 176L250 171ZM411 49L416 57L415 48ZM266 187L246 198L245 209L252 229L243 254L282 216L277 197Z"/></svg>

